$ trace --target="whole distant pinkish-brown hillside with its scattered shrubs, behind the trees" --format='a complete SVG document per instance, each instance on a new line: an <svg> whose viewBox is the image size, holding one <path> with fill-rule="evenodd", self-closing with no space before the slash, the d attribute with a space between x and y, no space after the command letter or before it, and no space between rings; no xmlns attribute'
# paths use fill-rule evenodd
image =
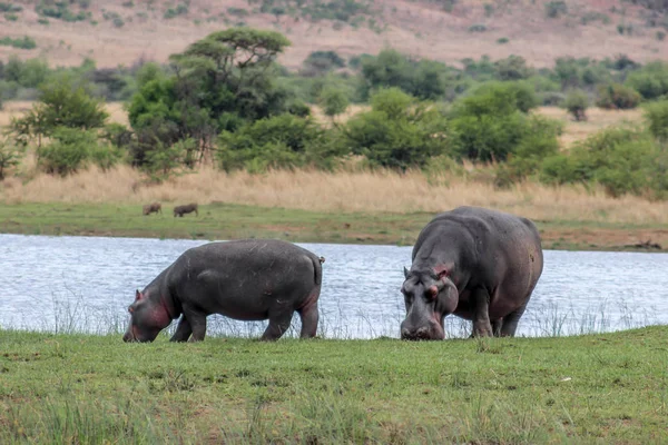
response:
<svg viewBox="0 0 668 445"><path fill-rule="evenodd" d="M301 3L302 7L297 7ZM536 67L561 56L668 59L665 0L69 0L0 1L0 59L42 56L53 65L165 61L209 32L245 24L292 41L279 61L296 68L316 50L343 57L392 47L444 62L489 55ZM11 42L28 36L37 48ZM3 39L10 38L10 39Z"/></svg>

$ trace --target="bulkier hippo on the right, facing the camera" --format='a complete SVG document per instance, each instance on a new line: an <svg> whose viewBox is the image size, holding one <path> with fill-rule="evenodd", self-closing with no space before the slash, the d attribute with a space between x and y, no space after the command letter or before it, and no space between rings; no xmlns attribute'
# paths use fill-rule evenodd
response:
<svg viewBox="0 0 668 445"><path fill-rule="evenodd" d="M529 219L480 207L435 216L413 247L401 288L404 339L442 339L449 314L473 322L473 336L513 336L542 273Z"/></svg>

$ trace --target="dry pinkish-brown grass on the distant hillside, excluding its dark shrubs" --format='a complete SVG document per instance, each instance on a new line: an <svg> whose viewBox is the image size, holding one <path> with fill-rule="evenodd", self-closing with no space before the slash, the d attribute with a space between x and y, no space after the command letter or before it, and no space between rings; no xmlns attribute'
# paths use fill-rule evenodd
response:
<svg viewBox="0 0 668 445"><path fill-rule="evenodd" d="M90 57L100 67L130 65L140 57L166 61L169 55L183 51L195 40L225 29L227 26L218 16L225 13L227 8L253 10L245 0L200 0L190 3L187 16L165 20L163 13L175 2L136 2L134 8L124 8L124 1L91 2L89 10L99 21L97 26L60 20L50 20L49 26L42 26L37 22L33 4L17 0L14 2L24 3L24 10L16 22L0 17L0 37L29 34L37 40L38 48L26 51L0 47L0 59L18 53L20 57L43 56L55 65L78 65L85 57ZM484 3L494 6L491 17L485 16ZM552 66L554 59L562 56L602 59L626 53L638 61L668 58L668 44L656 39L656 30L645 28L640 8L629 2L570 0L569 14L560 19L547 18L544 3L533 0L460 0L452 12L445 12L439 2L433 1L375 1L380 11L373 18L381 27L385 27L380 33L366 26L357 30L344 26L337 30L335 23L326 20L310 22L303 18L295 20L283 17L276 21L271 13L252 13L244 21L249 27L276 29L285 33L293 43L279 61L291 68L301 66L308 53L315 50L334 50L350 57L363 52L376 53L386 47L451 63L483 55L492 59L518 55L537 67ZM610 12L611 7L623 9L623 17ZM111 20L104 20L102 8L118 12L125 24L115 28ZM587 11L606 13L611 21L609 24L596 22L582 26L580 18ZM236 21L233 18L232 23ZM633 34L620 36L616 30L619 22L633 24ZM470 32L469 27L474 23L485 24L487 31ZM501 37L510 41L498 44L497 40Z"/></svg>

